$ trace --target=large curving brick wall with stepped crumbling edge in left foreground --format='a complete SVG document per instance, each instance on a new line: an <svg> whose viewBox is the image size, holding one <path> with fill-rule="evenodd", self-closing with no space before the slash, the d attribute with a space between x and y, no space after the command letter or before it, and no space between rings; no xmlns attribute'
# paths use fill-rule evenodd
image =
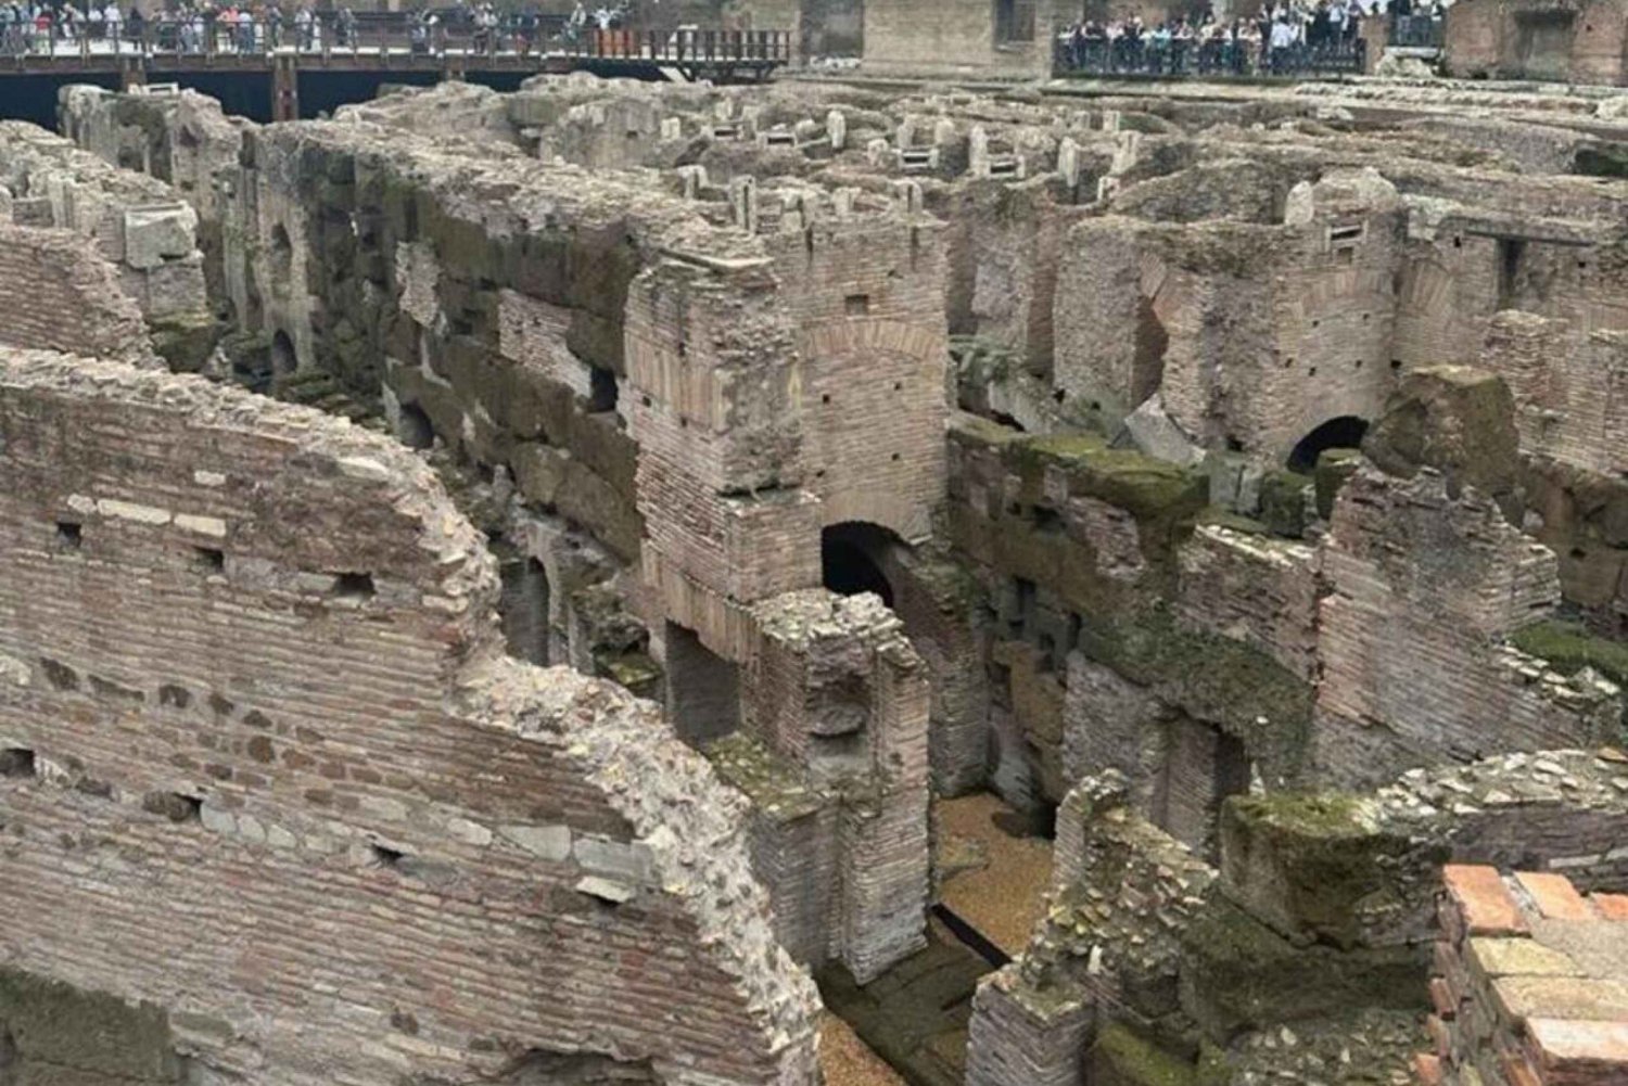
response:
<svg viewBox="0 0 1628 1086"><path fill-rule="evenodd" d="M417 458L16 352L0 433L13 969L267 1083L814 1079L744 804L648 703L501 655Z"/></svg>

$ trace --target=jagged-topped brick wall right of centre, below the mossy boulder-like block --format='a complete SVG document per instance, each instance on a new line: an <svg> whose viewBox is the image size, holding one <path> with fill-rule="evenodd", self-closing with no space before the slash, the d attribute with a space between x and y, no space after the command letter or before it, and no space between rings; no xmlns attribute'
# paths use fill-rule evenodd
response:
<svg viewBox="0 0 1628 1086"><path fill-rule="evenodd" d="M1314 759L1327 780L1615 733L1615 687L1561 679L1503 643L1551 614L1560 581L1555 555L1477 490L1451 497L1429 469L1359 472L1335 505L1322 573Z"/></svg>

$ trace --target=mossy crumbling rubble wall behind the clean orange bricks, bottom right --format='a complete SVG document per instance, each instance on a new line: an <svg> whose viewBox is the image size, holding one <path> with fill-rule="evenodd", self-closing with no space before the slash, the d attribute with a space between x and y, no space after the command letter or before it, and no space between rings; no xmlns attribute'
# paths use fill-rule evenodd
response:
<svg viewBox="0 0 1628 1086"><path fill-rule="evenodd" d="M1210 868L1131 812L1125 778L1086 778L1058 811L1047 918L980 987L969 1083L1400 1073L1428 1042L1441 865L1620 886L1625 782L1620 754L1561 751L1241 796Z"/></svg>

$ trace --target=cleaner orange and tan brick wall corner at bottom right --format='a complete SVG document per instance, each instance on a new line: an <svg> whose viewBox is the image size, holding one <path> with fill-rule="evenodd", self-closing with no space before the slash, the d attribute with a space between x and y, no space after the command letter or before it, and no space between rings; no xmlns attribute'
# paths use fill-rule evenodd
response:
<svg viewBox="0 0 1628 1086"><path fill-rule="evenodd" d="M1418 1078L1485 1086L1628 1081L1628 897L1584 897L1563 874L1442 873Z"/></svg>

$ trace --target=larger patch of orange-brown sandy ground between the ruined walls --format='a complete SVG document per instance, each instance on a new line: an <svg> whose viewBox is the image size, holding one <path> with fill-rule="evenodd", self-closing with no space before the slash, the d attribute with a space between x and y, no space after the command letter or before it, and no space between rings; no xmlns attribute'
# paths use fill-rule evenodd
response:
<svg viewBox="0 0 1628 1086"><path fill-rule="evenodd" d="M944 879L944 904L1016 957L1045 912L1052 842L1009 837L991 822L993 816L1009 809L988 793L938 801L941 855L946 850L983 853L982 866Z"/></svg>

